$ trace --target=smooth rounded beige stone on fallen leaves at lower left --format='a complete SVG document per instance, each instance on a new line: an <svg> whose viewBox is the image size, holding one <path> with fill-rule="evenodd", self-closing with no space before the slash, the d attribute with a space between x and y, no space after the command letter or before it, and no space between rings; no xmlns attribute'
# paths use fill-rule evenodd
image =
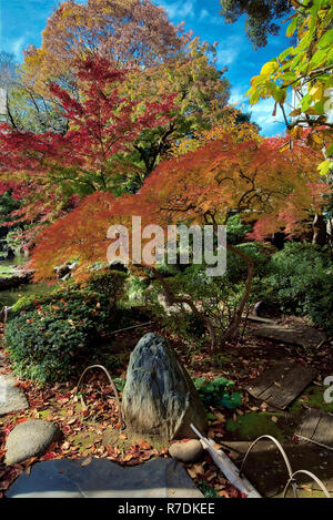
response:
<svg viewBox="0 0 333 520"><path fill-rule="evenodd" d="M41 456L60 435L59 428L53 422L40 419L21 422L7 438L4 462L11 466L30 457Z"/></svg>

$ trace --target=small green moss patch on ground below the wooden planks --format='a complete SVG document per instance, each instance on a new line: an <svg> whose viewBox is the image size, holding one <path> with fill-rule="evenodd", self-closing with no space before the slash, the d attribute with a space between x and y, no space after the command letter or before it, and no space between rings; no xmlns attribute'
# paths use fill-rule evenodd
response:
<svg viewBox="0 0 333 520"><path fill-rule="evenodd" d="M271 435L282 441L285 436L279 425L274 422L274 417L279 422L279 418L281 418L282 415L251 412L239 416L236 421L228 419L225 429L230 434L234 434L238 440L255 440L262 435Z"/></svg>

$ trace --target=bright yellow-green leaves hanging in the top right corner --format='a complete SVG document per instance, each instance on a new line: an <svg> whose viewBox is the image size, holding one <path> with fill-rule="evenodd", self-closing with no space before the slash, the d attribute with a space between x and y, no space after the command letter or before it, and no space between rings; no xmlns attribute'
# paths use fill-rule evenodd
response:
<svg viewBox="0 0 333 520"><path fill-rule="evenodd" d="M333 132L326 124L326 115L332 109L333 6L327 0L302 0L300 3L302 7L286 31L289 38L296 33L296 47L289 47L279 60L265 63L260 75L253 78L248 95L251 104L272 98L283 105L287 92L295 91L294 99L299 101L289 114L294 119L292 137L302 139L309 126L311 133L306 144L315 151L331 150ZM325 161L320 171L326 175L330 162Z"/></svg>

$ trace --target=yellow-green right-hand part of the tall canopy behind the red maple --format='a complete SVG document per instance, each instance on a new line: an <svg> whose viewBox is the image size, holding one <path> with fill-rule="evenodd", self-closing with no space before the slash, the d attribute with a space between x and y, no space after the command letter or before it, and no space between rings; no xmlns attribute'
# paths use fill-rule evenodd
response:
<svg viewBox="0 0 333 520"><path fill-rule="evenodd" d="M163 128L144 132L135 145L143 177L158 166L175 142L209 130L224 119L230 84L224 70L215 67L214 51L214 47L195 38L168 62L132 71L124 83L133 99L158 101L167 93L176 94L176 118Z"/></svg>

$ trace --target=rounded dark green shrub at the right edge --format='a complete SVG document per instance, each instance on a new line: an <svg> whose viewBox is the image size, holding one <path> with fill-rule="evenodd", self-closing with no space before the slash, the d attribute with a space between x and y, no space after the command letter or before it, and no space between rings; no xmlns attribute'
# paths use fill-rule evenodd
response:
<svg viewBox="0 0 333 520"><path fill-rule="evenodd" d="M272 256L266 298L333 333L333 263L319 246L290 243Z"/></svg>

